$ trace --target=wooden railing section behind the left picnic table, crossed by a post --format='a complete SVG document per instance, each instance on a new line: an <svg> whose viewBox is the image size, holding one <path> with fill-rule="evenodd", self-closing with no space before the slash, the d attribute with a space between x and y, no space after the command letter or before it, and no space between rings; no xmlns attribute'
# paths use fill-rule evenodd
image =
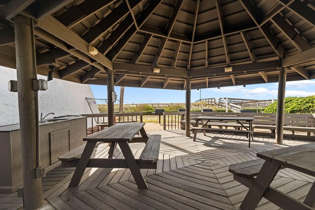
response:
<svg viewBox="0 0 315 210"><path fill-rule="evenodd" d="M99 131L99 125L102 123L107 123L107 113L97 113L97 114L82 114L83 117L87 117L87 122L91 120L92 134L94 133L94 128L97 126L97 131ZM115 113L115 123L119 122L143 122L143 114L139 113ZM87 123L88 124L88 123ZM89 127L87 127L88 129Z"/></svg>

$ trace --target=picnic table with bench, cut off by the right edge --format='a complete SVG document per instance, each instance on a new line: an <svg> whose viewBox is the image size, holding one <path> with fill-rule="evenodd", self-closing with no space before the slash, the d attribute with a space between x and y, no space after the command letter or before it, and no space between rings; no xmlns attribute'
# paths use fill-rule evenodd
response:
<svg viewBox="0 0 315 210"><path fill-rule="evenodd" d="M262 197L282 209L315 208L315 183L313 183L304 202L270 186L281 168L290 168L315 177L315 144L306 144L278 150L257 153L258 160L232 164L229 171L237 180L249 187L240 209L255 209ZM253 178L256 176L256 178Z"/></svg>

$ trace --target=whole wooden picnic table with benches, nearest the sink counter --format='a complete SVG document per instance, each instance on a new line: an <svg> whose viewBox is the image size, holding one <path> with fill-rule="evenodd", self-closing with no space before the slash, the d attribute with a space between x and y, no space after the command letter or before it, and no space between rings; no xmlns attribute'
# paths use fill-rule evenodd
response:
<svg viewBox="0 0 315 210"><path fill-rule="evenodd" d="M158 162L158 152L160 146L160 135L151 135L148 137L144 126L145 123L118 123L93 135L84 138L87 144L80 155L63 155L59 159L62 165L76 167L69 186L78 186L85 169L88 168L129 168L131 174L139 188L148 188L140 169L156 169ZM141 137L135 137L140 132ZM111 143L108 158L91 158L97 142ZM135 159L129 143L144 142L146 146L142 151L140 158ZM116 145L119 145L125 159L113 159L113 153Z"/></svg>

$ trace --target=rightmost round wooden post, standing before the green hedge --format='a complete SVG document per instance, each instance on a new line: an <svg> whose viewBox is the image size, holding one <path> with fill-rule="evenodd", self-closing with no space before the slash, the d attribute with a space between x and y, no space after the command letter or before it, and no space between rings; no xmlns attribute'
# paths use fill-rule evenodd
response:
<svg viewBox="0 0 315 210"><path fill-rule="evenodd" d="M284 95L285 95L286 67L279 69L278 108L276 123L276 141L282 145L284 138Z"/></svg>

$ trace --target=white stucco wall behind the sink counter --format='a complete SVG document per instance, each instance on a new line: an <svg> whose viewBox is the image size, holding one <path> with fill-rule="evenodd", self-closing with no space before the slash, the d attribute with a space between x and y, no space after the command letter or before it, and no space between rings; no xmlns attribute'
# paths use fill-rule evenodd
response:
<svg viewBox="0 0 315 210"><path fill-rule="evenodd" d="M0 125L18 123L18 95L8 90L8 81L16 80L16 70L0 66L0 72ZM47 79L41 75L38 78ZM39 91L38 96L39 113L43 116L50 112L55 116L89 114L91 110L85 97L94 98L89 85L59 79L49 81L48 90Z"/></svg>

